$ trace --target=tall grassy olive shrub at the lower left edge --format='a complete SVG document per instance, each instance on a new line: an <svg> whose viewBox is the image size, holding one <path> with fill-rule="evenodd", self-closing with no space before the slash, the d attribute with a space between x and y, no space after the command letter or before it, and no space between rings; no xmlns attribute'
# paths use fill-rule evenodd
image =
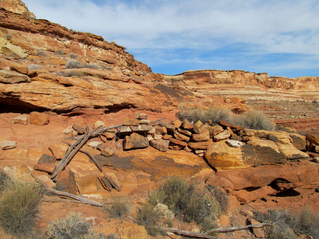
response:
<svg viewBox="0 0 319 239"><path fill-rule="evenodd" d="M30 235L41 200L41 187L20 181L5 183L0 203L0 226L17 237Z"/></svg>

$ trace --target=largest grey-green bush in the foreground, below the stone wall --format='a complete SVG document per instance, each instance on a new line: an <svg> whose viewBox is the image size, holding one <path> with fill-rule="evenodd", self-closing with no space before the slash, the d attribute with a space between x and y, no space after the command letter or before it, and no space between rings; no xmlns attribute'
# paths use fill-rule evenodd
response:
<svg viewBox="0 0 319 239"><path fill-rule="evenodd" d="M179 176L169 177L159 189L150 195L150 204L163 203L186 222L195 221L203 230L215 227L220 207L213 195Z"/></svg>

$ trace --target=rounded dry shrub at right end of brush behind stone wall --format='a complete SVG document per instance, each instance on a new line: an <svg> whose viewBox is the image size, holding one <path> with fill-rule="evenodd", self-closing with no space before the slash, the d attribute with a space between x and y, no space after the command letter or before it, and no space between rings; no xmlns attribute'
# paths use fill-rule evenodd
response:
<svg viewBox="0 0 319 239"><path fill-rule="evenodd" d="M246 128L272 131L273 124L261 111L248 111L242 116L242 125Z"/></svg>

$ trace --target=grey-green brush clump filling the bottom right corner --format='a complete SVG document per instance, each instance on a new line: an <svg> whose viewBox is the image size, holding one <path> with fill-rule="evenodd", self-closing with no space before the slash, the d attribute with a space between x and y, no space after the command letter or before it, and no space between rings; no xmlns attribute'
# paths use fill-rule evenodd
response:
<svg viewBox="0 0 319 239"><path fill-rule="evenodd" d="M265 227L266 239L295 239L295 232L319 239L319 212L302 208L300 213L270 209L267 213L255 211L259 222L276 223Z"/></svg>

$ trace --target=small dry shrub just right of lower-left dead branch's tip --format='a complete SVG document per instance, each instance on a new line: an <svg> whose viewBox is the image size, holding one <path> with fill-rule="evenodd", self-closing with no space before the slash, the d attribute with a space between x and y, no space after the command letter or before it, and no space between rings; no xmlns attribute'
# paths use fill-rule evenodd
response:
<svg viewBox="0 0 319 239"><path fill-rule="evenodd" d="M130 203L123 196L112 197L112 204L106 208L111 218L123 218L130 212Z"/></svg>

